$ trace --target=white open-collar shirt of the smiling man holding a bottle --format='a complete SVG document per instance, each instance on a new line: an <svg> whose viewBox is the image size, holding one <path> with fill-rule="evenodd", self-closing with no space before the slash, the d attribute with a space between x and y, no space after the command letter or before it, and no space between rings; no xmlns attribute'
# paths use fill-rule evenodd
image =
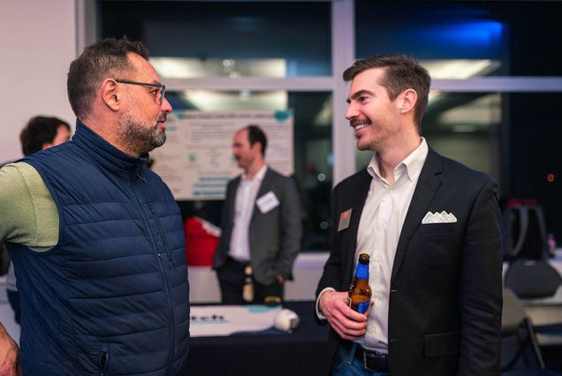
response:
<svg viewBox="0 0 562 376"><path fill-rule="evenodd" d="M427 156L428 144L422 137L420 146L392 171L392 184L381 176L376 154L368 164L367 171L373 180L361 212L355 249L355 265L361 253L370 256L368 281L373 291L371 301L375 304L368 314L367 333L357 340L366 349L388 352L392 265L406 212Z"/></svg>

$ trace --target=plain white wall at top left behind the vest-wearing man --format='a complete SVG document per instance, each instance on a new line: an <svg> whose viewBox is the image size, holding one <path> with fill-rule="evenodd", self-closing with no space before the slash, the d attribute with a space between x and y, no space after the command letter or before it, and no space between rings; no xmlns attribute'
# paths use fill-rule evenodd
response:
<svg viewBox="0 0 562 376"><path fill-rule="evenodd" d="M19 132L35 115L73 127L66 73L76 58L74 0L0 0L0 163L21 157Z"/></svg>

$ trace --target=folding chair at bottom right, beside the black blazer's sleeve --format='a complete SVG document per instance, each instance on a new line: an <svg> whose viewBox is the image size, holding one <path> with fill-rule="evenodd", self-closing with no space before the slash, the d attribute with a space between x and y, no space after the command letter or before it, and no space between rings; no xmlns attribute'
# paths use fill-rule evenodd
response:
<svg viewBox="0 0 562 376"><path fill-rule="evenodd" d="M525 308L517 296L504 288L504 309L502 311L502 338L515 337L517 349L511 360L502 367L502 376L562 376L561 373L547 370L544 365L543 355L536 341L535 330L527 317ZM530 364L525 357L525 350L531 348L535 357L535 364ZM523 358L525 368L513 369L520 358ZM533 367L533 365L538 365Z"/></svg>

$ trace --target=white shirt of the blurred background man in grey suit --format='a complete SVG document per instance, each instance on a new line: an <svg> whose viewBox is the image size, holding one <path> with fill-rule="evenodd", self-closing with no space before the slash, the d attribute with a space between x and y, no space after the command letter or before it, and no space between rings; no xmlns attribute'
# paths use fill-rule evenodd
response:
<svg viewBox="0 0 562 376"><path fill-rule="evenodd" d="M247 262L250 259L250 221L254 212L255 199L262 186L263 176L265 176L267 169L267 165L263 165L260 171L254 175L253 179L248 179L246 175L242 175L236 190L234 226L232 227L232 238L228 254L241 262Z"/></svg>

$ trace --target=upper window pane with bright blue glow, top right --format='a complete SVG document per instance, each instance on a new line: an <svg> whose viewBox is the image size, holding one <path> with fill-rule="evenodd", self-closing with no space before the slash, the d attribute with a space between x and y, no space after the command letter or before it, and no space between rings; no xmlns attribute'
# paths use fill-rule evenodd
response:
<svg viewBox="0 0 562 376"><path fill-rule="evenodd" d="M403 53L470 75L561 75L560 2L356 2L358 58ZM532 14L533 17L529 17ZM441 69L444 72L444 69ZM465 72L463 70L463 72ZM458 69L433 78L466 78Z"/></svg>

